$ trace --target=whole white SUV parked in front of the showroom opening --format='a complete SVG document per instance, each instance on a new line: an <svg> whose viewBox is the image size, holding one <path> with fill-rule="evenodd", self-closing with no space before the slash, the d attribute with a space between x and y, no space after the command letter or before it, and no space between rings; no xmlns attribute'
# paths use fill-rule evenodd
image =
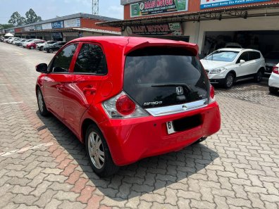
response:
<svg viewBox="0 0 279 209"><path fill-rule="evenodd" d="M254 78L256 82L261 82L266 70L261 52L254 49L218 49L201 62L210 82L222 84L228 89L242 79Z"/></svg>

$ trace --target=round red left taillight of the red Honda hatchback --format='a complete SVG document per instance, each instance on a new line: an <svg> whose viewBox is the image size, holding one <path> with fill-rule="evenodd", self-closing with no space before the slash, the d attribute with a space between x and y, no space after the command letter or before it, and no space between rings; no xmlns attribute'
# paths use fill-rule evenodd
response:
<svg viewBox="0 0 279 209"><path fill-rule="evenodd" d="M135 111L135 103L126 95L120 96L116 101L116 110L122 115L130 115Z"/></svg>

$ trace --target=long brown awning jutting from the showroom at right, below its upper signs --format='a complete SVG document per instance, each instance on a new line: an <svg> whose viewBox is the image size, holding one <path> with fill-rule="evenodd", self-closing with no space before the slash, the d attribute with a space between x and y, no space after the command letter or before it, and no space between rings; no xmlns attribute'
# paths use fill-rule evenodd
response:
<svg viewBox="0 0 279 209"><path fill-rule="evenodd" d="M147 23L175 23L175 22L187 22L187 21L202 21L202 20L223 20L230 18L252 18L261 16L274 16L279 15L278 8L279 2L266 3L258 5L246 5L246 6L233 6L229 8L216 8L211 10L203 10L197 12L185 12L185 13L168 13L165 15L149 15L142 18L132 18L129 20L117 20L104 23L96 23L100 26L110 27L125 27L128 25L141 25ZM265 8L264 13L249 13L257 9Z"/></svg>

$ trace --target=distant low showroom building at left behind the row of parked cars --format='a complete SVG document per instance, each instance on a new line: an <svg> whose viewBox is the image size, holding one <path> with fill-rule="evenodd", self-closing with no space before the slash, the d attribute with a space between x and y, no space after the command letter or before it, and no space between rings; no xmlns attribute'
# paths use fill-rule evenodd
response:
<svg viewBox="0 0 279 209"><path fill-rule="evenodd" d="M14 34L15 37L28 39L37 38L46 41L54 40L68 42L77 37L120 35L120 28L118 27L101 27L96 25L96 23L116 20L118 19L86 13L77 13L9 28L7 30L2 30L1 33L4 35L10 32Z"/></svg>

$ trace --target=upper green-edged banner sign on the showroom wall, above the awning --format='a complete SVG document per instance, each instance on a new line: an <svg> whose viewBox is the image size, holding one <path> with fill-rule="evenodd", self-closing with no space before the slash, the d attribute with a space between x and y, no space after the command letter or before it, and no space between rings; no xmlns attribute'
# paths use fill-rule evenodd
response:
<svg viewBox="0 0 279 209"><path fill-rule="evenodd" d="M188 10L188 0L149 0L130 4L131 18Z"/></svg>

